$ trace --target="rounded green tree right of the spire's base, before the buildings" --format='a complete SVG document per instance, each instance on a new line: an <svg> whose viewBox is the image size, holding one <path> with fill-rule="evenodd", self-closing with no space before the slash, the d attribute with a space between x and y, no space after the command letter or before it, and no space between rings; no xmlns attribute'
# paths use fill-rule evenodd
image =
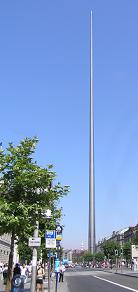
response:
<svg viewBox="0 0 138 292"><path fill-rule="evenodd" d="M115 257L115 250L116 249L119 250L119 244L116 241L107 240L107 241L104 241L104 243L102 244L102 248L103 248L103 251L104 251L104 255L107 258L110 257L111 259L114 259L114 257Z"/></svg>

